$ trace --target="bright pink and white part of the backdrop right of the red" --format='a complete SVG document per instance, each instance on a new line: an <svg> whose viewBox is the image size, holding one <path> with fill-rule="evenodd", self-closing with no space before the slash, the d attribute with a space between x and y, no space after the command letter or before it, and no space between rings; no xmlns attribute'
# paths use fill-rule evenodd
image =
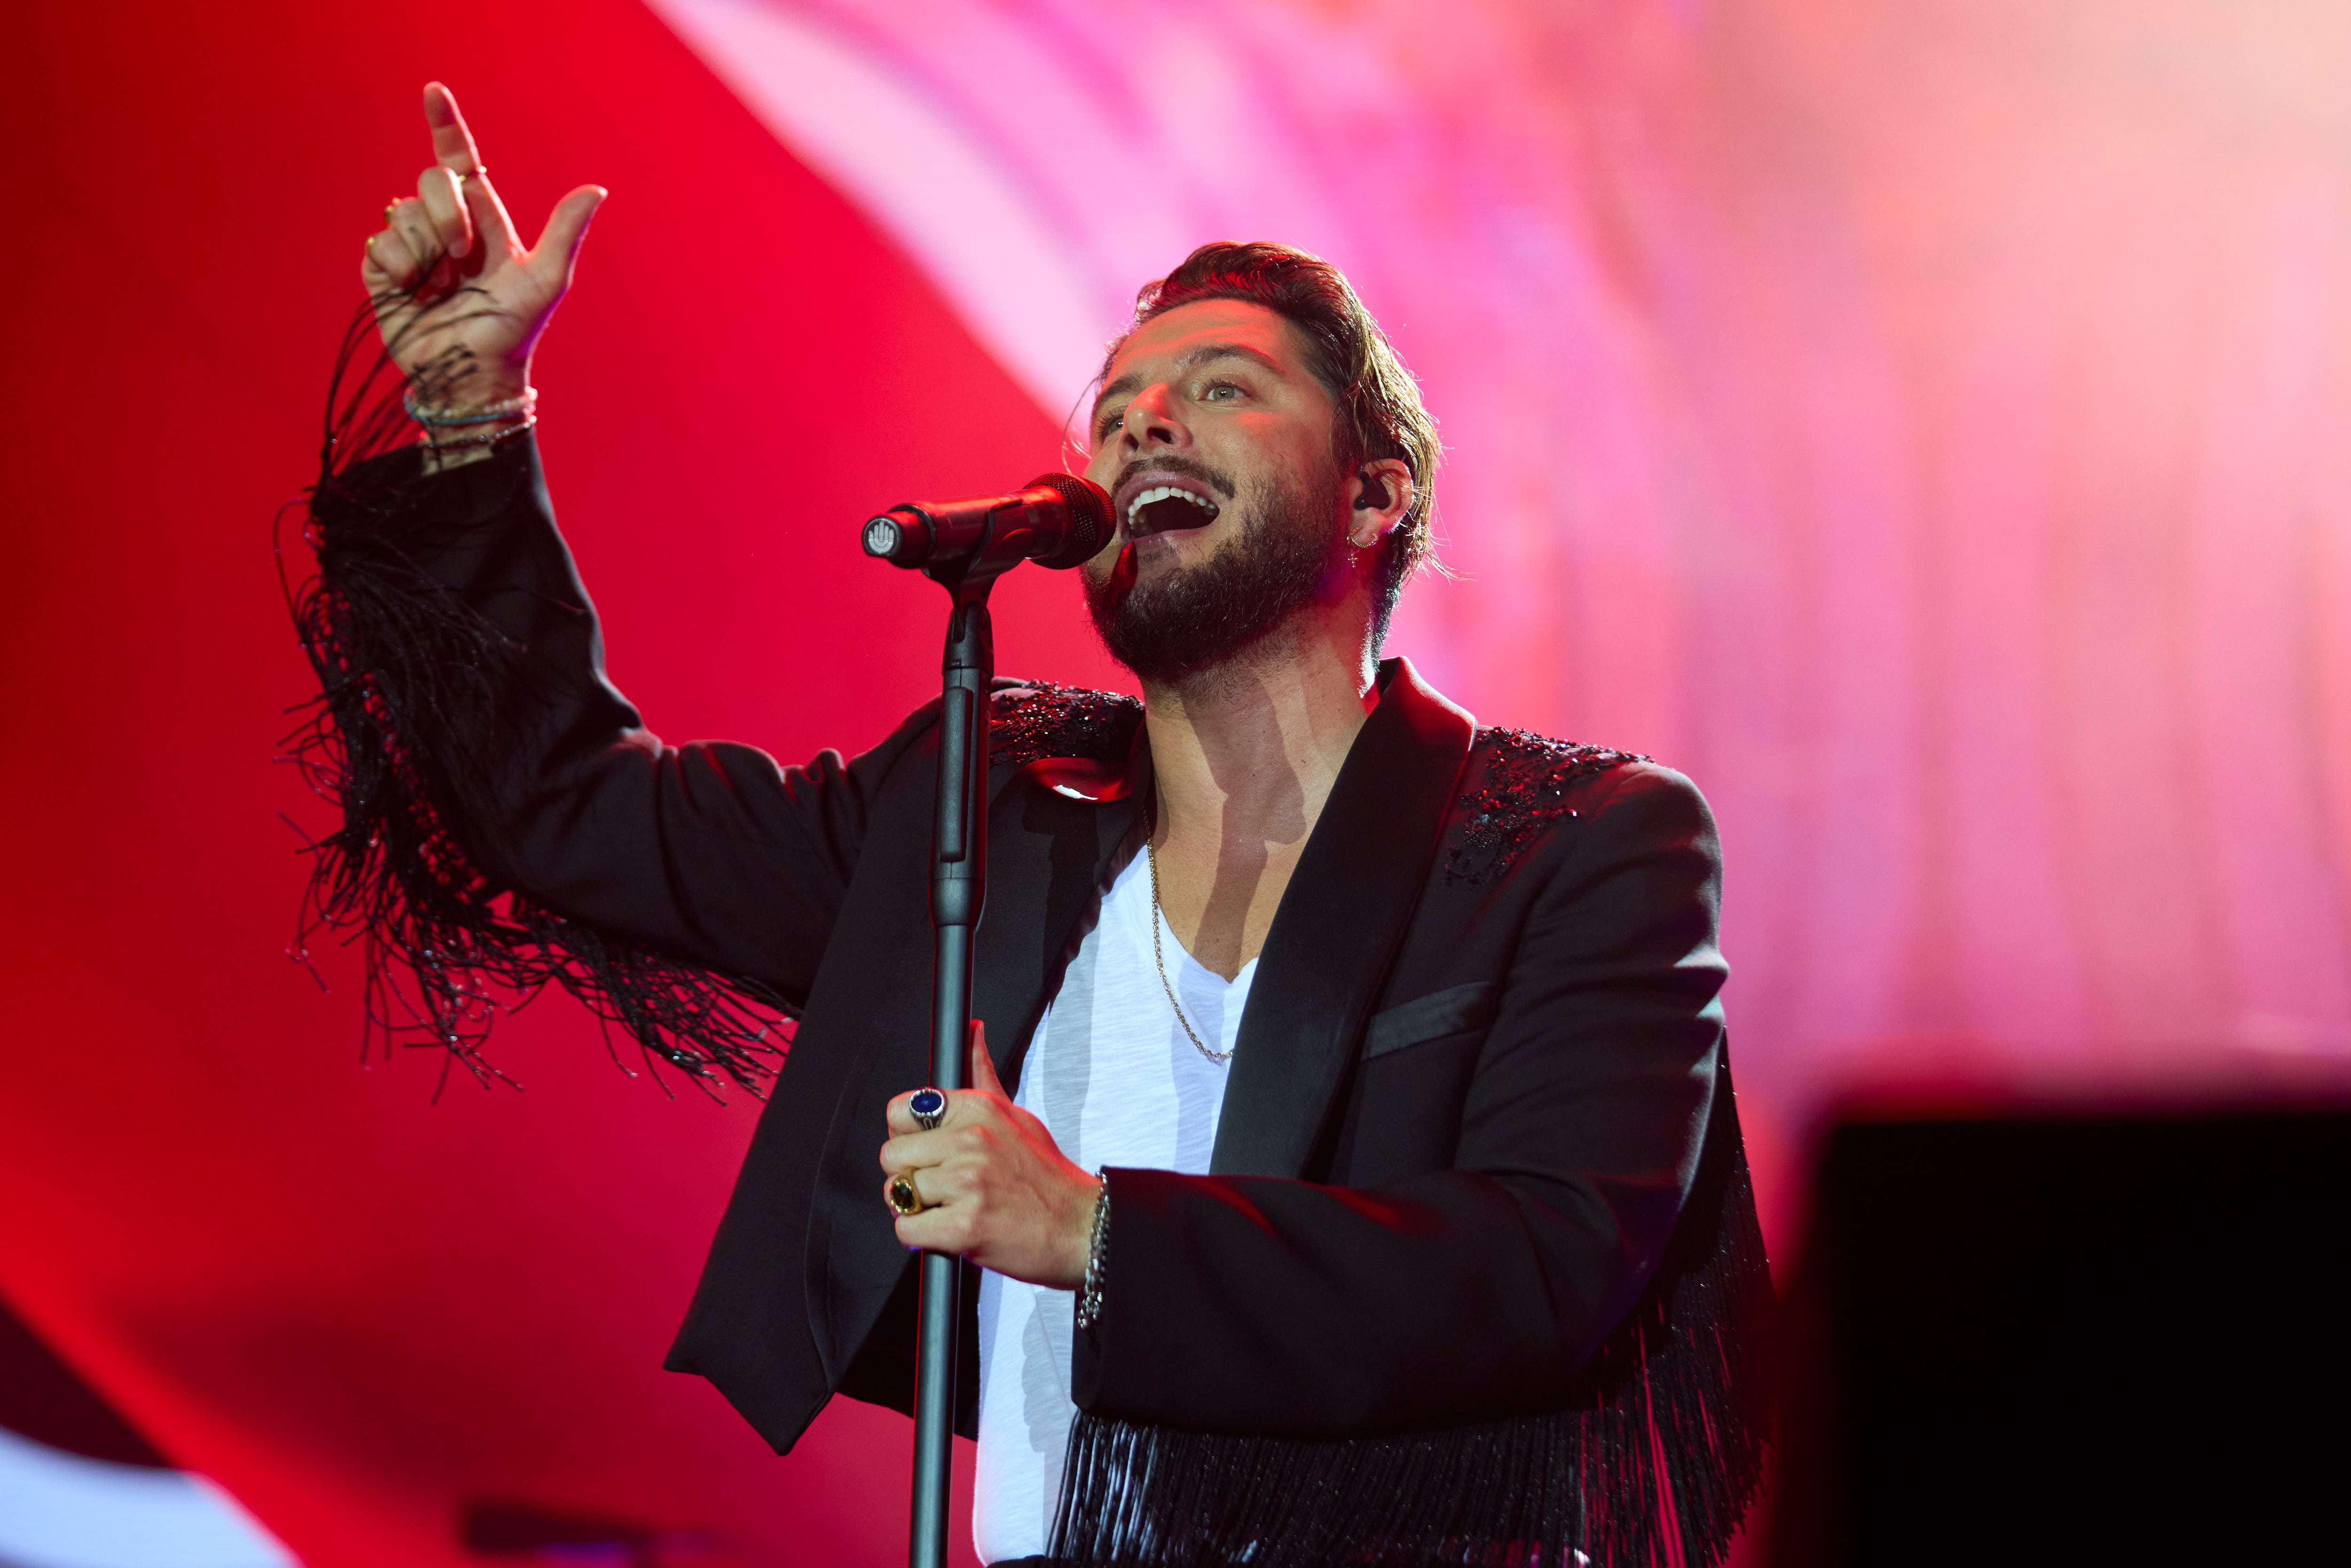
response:
<svg viewBox="0 0 2351 1568"><path fill-rule="evenodd" d="M1709 790L1768 1117L2351 1056L2325 7L654 7L1056 418L1192 244L1345 266L1394 644Z"/></svg>

